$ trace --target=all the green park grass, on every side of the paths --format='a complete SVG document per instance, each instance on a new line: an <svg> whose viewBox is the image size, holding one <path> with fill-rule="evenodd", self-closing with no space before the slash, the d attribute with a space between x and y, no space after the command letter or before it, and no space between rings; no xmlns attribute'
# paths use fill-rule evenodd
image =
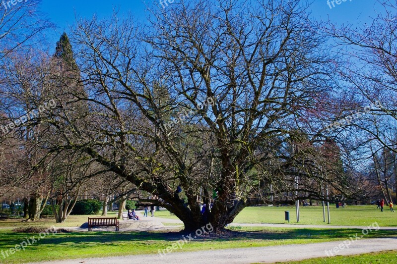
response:
<svg viewBox="0 0 397 264"><path fill-rule="evenodd" d="M290 211L291 223L295 222L295 208L293 207L251 207L243 210L235 219L236 223L284 223L284 211ZM116 216L116 212L109 212L108 216ZM397 214L390 211L380 212L371 206L350 206L344 209L331 208L331 224L333 225L363 225L378 222L380 226L397 226ZM99 215L91 215L95 217ZM168 211L156 211L156 217L177 219L170 216ZM37 222L21 222L21 219L0 221L0 228L23 226L55 225L57 228L80 226L87 221L87 215L71 215L65 223L55 224L54 219L41 219ZM324 224L321 207L301 208L301 224ZM166 225L171 225L167 224ZM178 229L179 228L179 229ZM26 263L31 261L48 261L60 259L75 259L104 256L122 256L134 254L157 254L158 250L171 246L182 237L178 231L182 226L176 226L173 232L73 232L48 235L37 243L30 245L25 251L3 258L0 263ZM182 250L197 251L208 249L260 247L285 244L306 244L335 241L354 235L355 229L315 229L315 228L265 228L230 226L232 234L224 237L205 237L192 241ZM16 233L12 229L0 229L0 252L21 243L26 237L34 234ZM37 234L36 234L37 236ZM396 237L395 230L378 230L369 233L366 238ZM370 261L382 258L395 258L394 252L378 255L364 255L353 257L335 257L331 259L314 260L307 263L355 263L355 258L365 258ZM338 259L340 258L340 259ZM345 258L345 259L343 259ZM335 260L334 262L332 262ZM388 259L385 259L385 262ZM320 262L319 262L320 261ZM327 261L327 262L323 262ZM350 262L349 262L350 261ZM360 261L361 262L361 261ZM301 262L306 263L306 262ZM377 263L377 262L373 262ZM379 262L378 262L379 263Z"/></svg>

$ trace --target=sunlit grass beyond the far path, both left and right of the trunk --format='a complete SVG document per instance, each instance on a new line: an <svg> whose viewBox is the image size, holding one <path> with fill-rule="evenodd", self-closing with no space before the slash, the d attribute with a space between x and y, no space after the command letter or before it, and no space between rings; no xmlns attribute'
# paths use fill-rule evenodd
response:
<svg viewBox="0 0 397 264"><path fill-rule="evenodd" d="M234 219L234 223L287 223L284 221L284 211L290 212L290 223L296 224L295 207L248 207ZM368 226L375 221L380 226L397 226L397 214L388 210L381 212L376 206L348 206L344 209L331 211L331 225ZM299 224L324 225L322 207L301 207ZM170 215L169 211L161 210L154 213L156 217L178 219ZM100 215L90 215L99 217ZM117 212L108 212L109 217L117 216ZM56 224L57 227L80 226L87 221L88 215L70 215L65 223ZM0 220L0 227L16 227L29 225L51 226L55 224L53 218L41 219L37 222L21 222L22 219Z"/></svg>

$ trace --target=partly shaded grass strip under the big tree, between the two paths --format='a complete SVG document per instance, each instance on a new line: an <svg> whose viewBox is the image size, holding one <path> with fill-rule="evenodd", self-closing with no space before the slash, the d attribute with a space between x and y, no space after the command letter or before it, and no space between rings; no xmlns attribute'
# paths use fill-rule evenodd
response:
<svg viewBox="0 0 397 264"><path fill-rule="evenodd" d="M233 232L223 237L203 237L175 250L197 251L209 249L245 248L285 244L305 244L335 241L354 235L354 229L313 228L264 228L231 227ZM366 237L393 237L395 231L378 230ZM0 252L21 243L35 234L15 233L0 230ZM37 234L36 234L37 238ZM182 233L173 232L73 232L50 234L40 241L3 259L0 263L26 263L75 258L109 257L134 254L158 254L182 238Z"/></svg>

